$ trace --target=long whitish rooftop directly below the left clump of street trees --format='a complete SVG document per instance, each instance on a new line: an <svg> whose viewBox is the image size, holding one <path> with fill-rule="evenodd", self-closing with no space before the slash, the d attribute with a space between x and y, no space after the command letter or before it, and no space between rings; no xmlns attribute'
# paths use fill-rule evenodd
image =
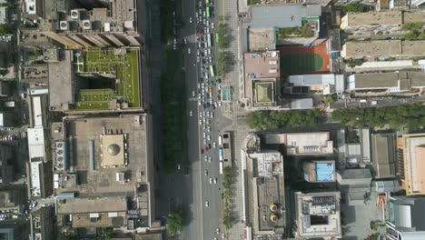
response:
<svg viewBox="0 0 425 240"><path fill-rule="evenodd" d="M331 155L330 137L329 132L263 135L266 145L285 145L287 155Z"/></svg>

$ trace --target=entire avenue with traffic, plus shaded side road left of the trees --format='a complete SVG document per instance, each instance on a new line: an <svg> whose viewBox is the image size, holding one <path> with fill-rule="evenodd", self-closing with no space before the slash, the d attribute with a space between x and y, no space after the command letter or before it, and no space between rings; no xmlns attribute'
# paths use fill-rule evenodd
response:
<svg viewBox="0 0 425 240"><path fill-rule="evenodd" d="M180 13L178 10L180 6L177 3L175 2L175 12ZM174 56L178 59L176 61L177 69L183 70L177 71L178 73L174 75L174 81L177 85L176 91L186 91L185 95L187 96L187 111L184 114L187 115L189 174L184 175L183 159L178 159L181 167L176 169L173 175L165 175L161 165L156 167L156 215L165 216L175 210L183 211L184 227L179 239L221 238L223 232L223 229L221 229L222 181L219 167L218 135L224 126L232 125L232 121L222 115L216 97L216 95L219 95L218 77L212 76L210 70L210 65L214 65L213 72L215 72L216 54L218 52L214 43L215 29L213 28L213 25L218 26L218 21L213 16L217 18L219 14L213 13L213 9L218 9L218 7L213 7L212 3L209 4L212 10L208 18L205 15L205 0L202 0L201 6L199 1L183 1L184 25L176 33L176 42L179 43L178 46L181 46L182 43L185 43L185 45L183 45L183 51L179 48L173 51ZM148 29L157 29L160 25L160 6L153 1L149 1L148 5L150 7L148 18L150 18L149 22L151 23ZM196 15L198 15L198 19ZM208 30L205 28L205 24L208 24ZM203 34L205 30L209 32L211 37L210 47L207 44L206 34ZM161 61L166 61L161 57L164 56L162 54L164 50L158 47L158 43L161 41L161 35L158 32L149 31L148 33L147 49L149 51L147 59L150 60L151 65L162 65ZM202 47L200 48L201 44ZM208 51L208 49L210 50ZM184 62L180 61L183 59L181 53L184 55ZM152 71L153 103L160 103L158 97L160 87L157 83L160 82L161 74L154 69ZM183 76L185 77L183 78ZM183 79L185 80L184 85ZM213 109L214 104L215 109ZM154 127L161 132L160 104L153 105L158 106L151 110L156 119ZM200 125L200 121L202 125ZM203 136L204 133L205 137ZM155 142L161 143L161 138L156 137L158 138L155 139ZM214 143L215 147L213 147ZM205 147L207 147L207 151L205 151ZM157 146L155 150L158 159L161 159L160 149L161 146ZM201 149L205 152L204 154L202 154ZM207 175L205 171L207 171ZM206 202L208 202L208 206L206 206ZM220 229L220 235L217 235L217 229Z"/></svg>

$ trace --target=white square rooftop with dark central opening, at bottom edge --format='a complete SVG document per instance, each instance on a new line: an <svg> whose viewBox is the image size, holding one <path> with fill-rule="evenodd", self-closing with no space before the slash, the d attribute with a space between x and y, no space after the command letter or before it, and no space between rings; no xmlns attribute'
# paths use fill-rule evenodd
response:
<svg viewBox="0 0 425 240"><path fill-rule="evenodd" d="M295 193L298 237L341 237L339 192Z"/></svg>

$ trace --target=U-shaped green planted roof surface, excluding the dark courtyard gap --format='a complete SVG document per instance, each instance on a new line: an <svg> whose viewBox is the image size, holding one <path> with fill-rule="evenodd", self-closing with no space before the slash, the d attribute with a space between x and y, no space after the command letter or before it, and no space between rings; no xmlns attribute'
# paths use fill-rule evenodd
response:
<svg viewBox="0 0 425 240"><path fill-rule="evenodd" d="M76 96L77 109L105 109L114 99L123 99L130 107L140 106L137 49L126 49L124 55L114 55L114 49L88 50L74 60L74 69L81 75L97 73L115 78L115 89L80 90Z"/></svg>

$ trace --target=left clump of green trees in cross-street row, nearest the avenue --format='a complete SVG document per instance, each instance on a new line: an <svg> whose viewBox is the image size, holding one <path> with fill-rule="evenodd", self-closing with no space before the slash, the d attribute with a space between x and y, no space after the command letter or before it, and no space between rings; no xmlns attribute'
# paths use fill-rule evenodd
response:
<svg viewBox="0 0 425 240"><path fill-rule="evenodd" d="M248 115L248 125L259 130L302 128L321 123L319 110L257 111Z"/></svg>

